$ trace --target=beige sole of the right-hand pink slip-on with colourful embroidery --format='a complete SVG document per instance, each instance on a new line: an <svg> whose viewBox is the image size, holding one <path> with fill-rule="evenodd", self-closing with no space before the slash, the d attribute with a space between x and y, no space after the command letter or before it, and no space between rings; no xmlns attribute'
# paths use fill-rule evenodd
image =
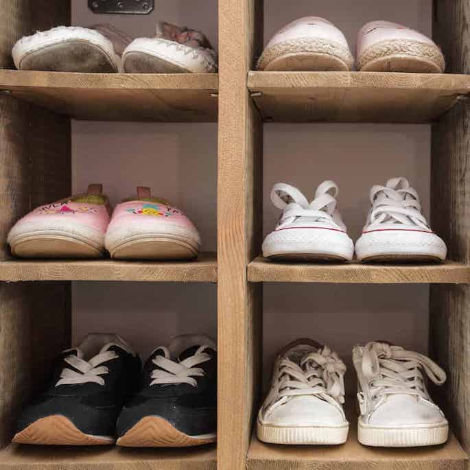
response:
<svg viewBox="0 0 470 470"><path fill-rule="evenodd" d="M191 245L168 238L140 238L110 250L115 259L193 259L198 250Z"/></svg>

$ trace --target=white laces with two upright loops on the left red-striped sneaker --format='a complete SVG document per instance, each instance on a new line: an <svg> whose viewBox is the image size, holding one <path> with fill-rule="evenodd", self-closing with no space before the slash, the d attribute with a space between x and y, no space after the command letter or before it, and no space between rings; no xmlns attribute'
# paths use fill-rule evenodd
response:
<svg viewBox="0 0 470 470"><path fill-rule="evenodd" d="M339 212L336 209L338 192L336 183L327 180L316 189L314 200L308 202L296 187L277 183L272 187L271 201L275 207L283 211L282 220L305 217L314 222L329 222L344 230L344 226L338 225Z"/></svg>

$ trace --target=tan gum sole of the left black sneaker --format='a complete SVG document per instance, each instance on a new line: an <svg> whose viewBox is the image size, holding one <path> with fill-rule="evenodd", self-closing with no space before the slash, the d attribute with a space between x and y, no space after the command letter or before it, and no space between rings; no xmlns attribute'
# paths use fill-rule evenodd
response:
<svg viewBox="0 0 470 470"><path fill-rule="evenodd" d="M14 443L36 445L110 445L115 438L84 434L65 416L38 419L14 435Z"/></svg>

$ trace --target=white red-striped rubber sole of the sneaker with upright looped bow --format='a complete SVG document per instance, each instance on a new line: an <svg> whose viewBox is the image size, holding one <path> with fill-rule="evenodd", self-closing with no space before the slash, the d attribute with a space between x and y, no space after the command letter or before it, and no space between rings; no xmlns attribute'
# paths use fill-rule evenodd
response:
<svg viewBox="0 0 470 470"><path fill-rule="evenodd" d="M328 228L284 228L263 242L263 257L289 261L351 261L354 244L341 231Z"/></svg>

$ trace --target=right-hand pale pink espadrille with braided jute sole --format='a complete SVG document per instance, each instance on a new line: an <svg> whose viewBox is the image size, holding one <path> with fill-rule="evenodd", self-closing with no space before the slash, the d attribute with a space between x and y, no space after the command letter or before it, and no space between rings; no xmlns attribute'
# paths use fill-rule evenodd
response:
<svg viewBox="0 0 470 470"><path fill-rule="evenodd" d="M427 36L390 21L371 21L357 35L357 70L442 73L445 60Z"/></svg>

